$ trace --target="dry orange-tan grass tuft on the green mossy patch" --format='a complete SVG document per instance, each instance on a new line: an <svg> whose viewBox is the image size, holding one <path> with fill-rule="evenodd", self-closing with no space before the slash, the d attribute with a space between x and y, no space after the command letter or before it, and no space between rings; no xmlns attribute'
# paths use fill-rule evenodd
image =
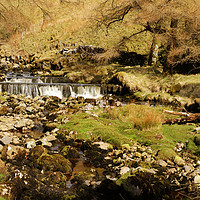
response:
<svg viewBox="0 0 200 200"><path fill-rule="evenodd" d="M163 121L163 115L148 105L130 104L121 108L114 108L109 111L109 117L123 122L131 122L139 130L161 126Z"/></svg>

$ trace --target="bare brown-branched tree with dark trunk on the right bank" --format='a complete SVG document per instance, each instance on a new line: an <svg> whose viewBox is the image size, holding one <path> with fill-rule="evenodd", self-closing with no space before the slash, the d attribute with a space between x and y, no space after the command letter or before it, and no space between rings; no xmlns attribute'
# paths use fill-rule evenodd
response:
<svg viewBox="0 0 200 200"><path fill-rule="evenodd" d="M200 59L199 10L199 0L106 0L99 7L97 25L109 29L117 22L123 23L127 16L131 17L132 26L140 26L142 30L123 38L120 44L149 32L152 45L148 64L152 64L158 43L163 53L164 71L176 71L177 66L187 63L184 70L188 72L197 67Z"/></svg>

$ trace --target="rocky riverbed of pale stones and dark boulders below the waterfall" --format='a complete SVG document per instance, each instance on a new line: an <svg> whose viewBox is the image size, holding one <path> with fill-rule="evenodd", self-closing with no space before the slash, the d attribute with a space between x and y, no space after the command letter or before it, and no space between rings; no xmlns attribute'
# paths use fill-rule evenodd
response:
<svg viewBox="0 0 200 200"><path fill-rule="evenodd" d="M57 128L70 119L121 106L103 99L35 97L4 94L0 106L0 183L6 199L181 199L198 198L200 159L174 147L177 156L162 160L150 146L122 147L76 139ZM91 115L93 115L91 113ZM194 131L199 131L198 128Z"/></svg>

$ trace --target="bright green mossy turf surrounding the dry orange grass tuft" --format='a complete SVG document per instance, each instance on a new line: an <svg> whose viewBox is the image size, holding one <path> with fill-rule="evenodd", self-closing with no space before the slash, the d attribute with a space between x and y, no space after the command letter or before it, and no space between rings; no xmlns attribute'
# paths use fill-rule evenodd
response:
<svg viewBox="0 0 200 200"><path fill-rule="evenodd" d="M138 107L140 108L140 106ZM165 108L155 107L151 109L161 114ZM98 112L98 118L90 114L78 113L70 115L70 121L58 125L58 127L61 131L67 130L67 133L77 132L73 137L78 139L96 140L100 138L118 146L131 146L135 142L150 145L153 150L158 151L161 158L175 156L174 147L177 142L185 143L188 140L187 150L195 152L198 149L194 143L194 136L190 134L194 128L193 125L159 125L148 129L137 129L132 118L127 118L123 109L118 109L112 115L109 112L94 112ZM170 117L169 114L164 115L164 118Z"/></svg>

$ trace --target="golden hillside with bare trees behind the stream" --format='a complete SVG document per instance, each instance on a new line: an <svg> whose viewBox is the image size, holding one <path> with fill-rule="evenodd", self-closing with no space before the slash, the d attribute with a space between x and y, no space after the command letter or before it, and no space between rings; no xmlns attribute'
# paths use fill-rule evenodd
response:
<svg viewBox="0 0 200 200"><path fill-rule="evenodd" d="M164 71L197 73L199 8L196 0L3 0L0 37L40 57L77 43L104 47L108 60L132 51Z"/></svg>

